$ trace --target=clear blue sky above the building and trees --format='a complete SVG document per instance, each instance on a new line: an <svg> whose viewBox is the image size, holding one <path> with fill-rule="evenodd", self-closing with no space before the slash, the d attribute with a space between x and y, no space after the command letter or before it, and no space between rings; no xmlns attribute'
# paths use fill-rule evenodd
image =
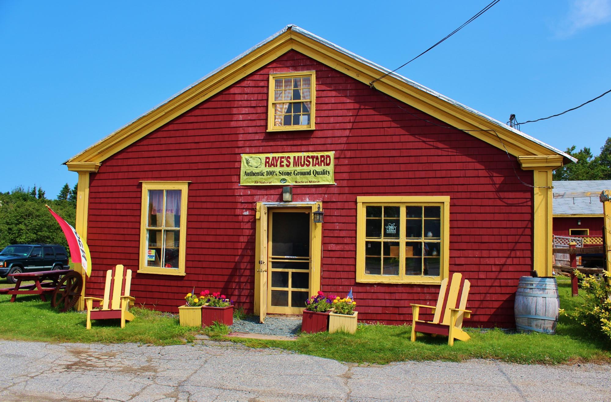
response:
<svg viewBox="0 0 611 402"><path fill-rule="evenodd" d="M0 0L0 191L55 197L66 159L287 24L395 68L488 2ZM609 43L611 0L501 0L399 73L523 122L611 89ZM611 94L522 131L596 154L610 111Z"/></svg>

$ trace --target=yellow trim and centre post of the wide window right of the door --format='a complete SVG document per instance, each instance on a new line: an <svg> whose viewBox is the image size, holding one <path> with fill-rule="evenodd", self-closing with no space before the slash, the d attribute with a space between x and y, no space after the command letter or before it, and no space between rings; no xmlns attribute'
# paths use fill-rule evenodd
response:
<svg viewBox="0 0 611 402"><path fill-rule="evenodd" d="M388 197L357 197L356 214L356 282L359 283L417 283L420 285L439 285L449 276L450 256L450 197L448 196L388 196ZM398 276L365 274L365 206L367 205L418 205L441 206L441 258L439 276L411 276L400 269ZM400 221L405 220L404 208L401 208ZM400 225L400 243L405 241L405 225ZM405 259L405 247L399 247L399 260Z"/></svg>

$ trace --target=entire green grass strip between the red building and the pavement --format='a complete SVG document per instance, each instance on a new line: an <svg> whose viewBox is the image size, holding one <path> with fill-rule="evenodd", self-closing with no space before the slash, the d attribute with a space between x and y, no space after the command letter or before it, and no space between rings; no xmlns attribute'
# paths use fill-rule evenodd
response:
<svg viewBox="0 0 611 402"><path fill-rule="evenodd" d="M582 300L572 298L570 283L558 277L561 307L571 311ZM137 302L137 301L136 301ZM86 315L78 312L57 313L49 302L38 296L0 296L0 338L46 342L136 342L154 345L175 345L191 342L202 332L181 327L177 318L147 309L134 308L134 321L120 329L119 320L93 321L85 329ZM556 335L512 334L500 329L467 329L469 342L455 341L447 345L446 337L419 334L417 342L409 342L411 326L359 325L356 334L302 334L296 341L253 340L230 338L254 348L280 348L344 362L386 364L402 360L499 359L516 363L559 364L563 362L611 362L609 343L592 337L588 330L561 316ZM215 339L224 338L227 327L217 326L205 331Z"/></svg>

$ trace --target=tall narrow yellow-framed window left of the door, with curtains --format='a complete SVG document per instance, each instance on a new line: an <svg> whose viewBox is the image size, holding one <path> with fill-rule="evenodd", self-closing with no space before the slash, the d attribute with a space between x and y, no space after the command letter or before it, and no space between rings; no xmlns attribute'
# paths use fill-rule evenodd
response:
<svg viewBox="0 0 611 402"><path fill-rule="evenodd" d="M138 272L185 275L188 183L142 182Z"/></svg>

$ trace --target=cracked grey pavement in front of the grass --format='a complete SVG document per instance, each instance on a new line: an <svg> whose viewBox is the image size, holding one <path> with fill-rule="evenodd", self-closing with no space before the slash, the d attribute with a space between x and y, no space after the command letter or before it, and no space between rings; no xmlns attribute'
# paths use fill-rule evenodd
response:
<svg viewBox="0 0 611 402"><path fill-rule="evenodd" d="M609 401L610 369L493 360L359 366L208 340L177 346L0 341L0 400Z"/></svg>

